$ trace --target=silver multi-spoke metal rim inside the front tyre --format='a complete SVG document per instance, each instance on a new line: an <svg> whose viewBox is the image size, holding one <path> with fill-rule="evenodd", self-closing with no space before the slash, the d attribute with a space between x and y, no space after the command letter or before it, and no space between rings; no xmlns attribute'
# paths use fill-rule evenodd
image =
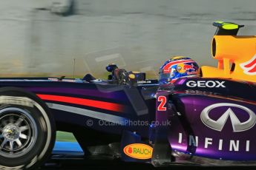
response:
<svg viewBox="0 0 256 170"><path fill-rule="evenodd" d="M36 143L37 127L29 112L16 107L0 110L0 155L21 157Z"/></svg>

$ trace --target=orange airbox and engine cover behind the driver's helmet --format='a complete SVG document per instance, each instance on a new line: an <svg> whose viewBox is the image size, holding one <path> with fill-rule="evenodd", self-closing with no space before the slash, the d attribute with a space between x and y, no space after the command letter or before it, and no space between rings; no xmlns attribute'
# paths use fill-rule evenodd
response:
<svg viewBox="0 0 256 170"><path fill-rule="evenodd" d="M216 33L211 43L211 55L218 60L218 66L201 67L203 78L232 78L256 82L256 36Z"/></svg>

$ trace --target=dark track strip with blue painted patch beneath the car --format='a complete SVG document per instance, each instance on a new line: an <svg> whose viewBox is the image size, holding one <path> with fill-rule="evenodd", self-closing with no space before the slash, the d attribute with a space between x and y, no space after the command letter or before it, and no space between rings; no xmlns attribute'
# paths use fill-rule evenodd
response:
<svg viewBox="0 0 256 170"><path fill-rule="evenodd" d="M133 169L207 169L207 170L220 170L220 169L256 169L256 166L189 166L189 165L171 165L160 168L155 168L151 164L146 163L125 163L119 159L114 159L109 156L97 156L97 157L84 157L82 149L78 143L69 142L56 142L53 149L53 155L50 160L45 163L41 168L42 170L61 170L61 169L121 169L121 170L133 170Z"/></svg>

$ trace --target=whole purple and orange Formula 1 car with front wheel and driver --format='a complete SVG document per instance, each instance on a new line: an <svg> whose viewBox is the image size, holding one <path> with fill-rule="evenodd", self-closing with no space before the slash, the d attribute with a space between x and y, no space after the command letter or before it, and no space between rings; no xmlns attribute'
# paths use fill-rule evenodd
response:
<svg viewBox="0 0 256 170"><path fill-rule="evenodd" d="M1 78L0 169L40 166L52 152L56 130L73 132L85 156L154 166L253 165L256 37L237 36L238 24L214 25L217 68L199 69L179 56L160 68L159 81L115 64L106 67L106 81L89 74Z"/></svg>

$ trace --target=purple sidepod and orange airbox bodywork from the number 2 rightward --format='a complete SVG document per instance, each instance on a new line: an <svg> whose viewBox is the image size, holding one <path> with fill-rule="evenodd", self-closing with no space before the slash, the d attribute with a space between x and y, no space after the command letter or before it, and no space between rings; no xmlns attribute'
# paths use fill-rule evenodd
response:
<svg viewBox="0 0 256 170"><path fill-rule="evenodd" d="M176 161L237 165L256 160L255 36L237 36L243 26L224 30L225 24L233 23L218 24L212 41L217 68L202 67L201 78L180 78L171 89L157 90L157 98L165 98L157 106L166 104L158 107L156 118L171 120L165 134Z"/></svg>

